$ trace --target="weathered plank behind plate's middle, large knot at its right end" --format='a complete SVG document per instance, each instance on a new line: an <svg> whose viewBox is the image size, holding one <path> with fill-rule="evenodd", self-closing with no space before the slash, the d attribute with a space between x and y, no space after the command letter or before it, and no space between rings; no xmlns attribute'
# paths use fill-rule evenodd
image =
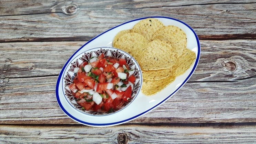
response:
<svg viewBox="0 0 256 144"><path fill-rule="evenodd" d="M58 75L66 60L84 43L0 43L1 78ZM190 81L235 81L256 75L255 40L200 43L199 64Z"/></svg>

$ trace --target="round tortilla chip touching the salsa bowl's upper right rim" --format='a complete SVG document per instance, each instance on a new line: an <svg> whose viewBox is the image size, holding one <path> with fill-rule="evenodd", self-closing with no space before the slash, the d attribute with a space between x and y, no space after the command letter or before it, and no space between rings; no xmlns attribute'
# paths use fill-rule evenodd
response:
<svg viewBox="0 0 256 144"><path fill-rule="evenodd" d="M140 60L142 56L141 53L144 52L146 46L147 40L143 35L134 32L124 33L114 45L115 48L121 49L132 55L136 61Z"/></svg>

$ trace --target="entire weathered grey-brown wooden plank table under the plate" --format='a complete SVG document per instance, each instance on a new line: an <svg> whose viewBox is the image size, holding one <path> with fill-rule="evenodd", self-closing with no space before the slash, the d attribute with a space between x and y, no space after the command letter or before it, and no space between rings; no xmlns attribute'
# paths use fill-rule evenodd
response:
<svg viewBox="0 0 256 144"><path fill-rule="evenodd" d="M55 84L84 43L148 16L197 33L191 79L150 113L111 127L60 109ZM256 143L256 1L0 1L0 143Z"/></svg>

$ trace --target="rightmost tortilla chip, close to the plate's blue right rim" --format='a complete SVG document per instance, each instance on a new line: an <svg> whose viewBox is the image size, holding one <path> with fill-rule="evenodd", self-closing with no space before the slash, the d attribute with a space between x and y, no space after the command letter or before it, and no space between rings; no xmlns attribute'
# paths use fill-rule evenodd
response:
<svg viewBox="0 0 256 144"><path fill-rule="evenodd" d="M177 63L174 65L174 76L184 74L196 59L196 53L190 49L185 49L183 55L178 58Z"/></svg>

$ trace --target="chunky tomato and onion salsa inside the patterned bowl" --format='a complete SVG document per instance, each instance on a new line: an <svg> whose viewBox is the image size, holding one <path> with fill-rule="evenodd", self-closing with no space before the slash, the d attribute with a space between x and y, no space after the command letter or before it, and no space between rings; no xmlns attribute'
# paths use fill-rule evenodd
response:
<svg viewBox="0 0 256 144"><path fill-rule="evenodd" d="M136 78L125 59L101 53L82 62L74 72L73 83L68 87L82 109L109 112L131 98Z"/></svg>

